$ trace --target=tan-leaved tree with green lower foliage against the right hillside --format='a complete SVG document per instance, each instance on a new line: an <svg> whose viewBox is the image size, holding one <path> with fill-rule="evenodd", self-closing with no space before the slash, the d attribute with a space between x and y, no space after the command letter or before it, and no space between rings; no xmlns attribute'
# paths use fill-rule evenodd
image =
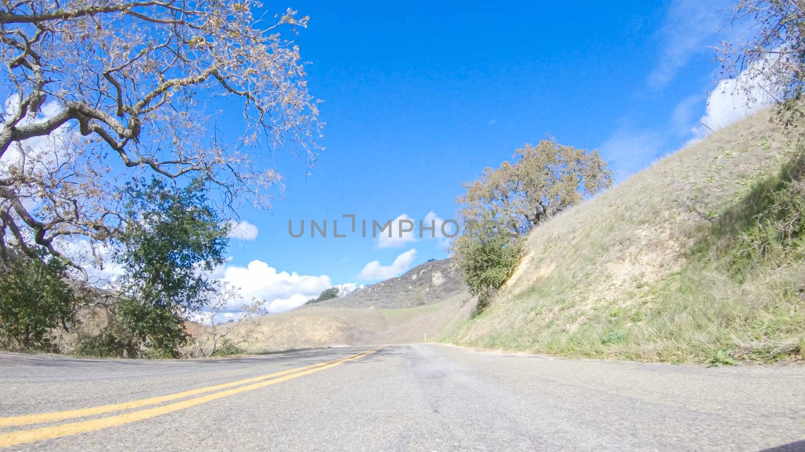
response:
<svg viewBox="0 0 805 452"><path fill-rule="evenodd" d="M557 213L612 184L597 151L563 146L547 138L514 151L514 162L485 168L464 183L458 198L462 235L452 254L464 274L476 313L489 305L522 255L522 236Z"/></svg>

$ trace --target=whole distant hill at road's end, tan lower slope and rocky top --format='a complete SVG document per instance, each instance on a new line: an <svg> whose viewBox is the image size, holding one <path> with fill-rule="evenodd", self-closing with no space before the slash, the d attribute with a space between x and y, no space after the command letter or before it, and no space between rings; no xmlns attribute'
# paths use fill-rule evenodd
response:
<svg viewBox="0 0 805 452"><path fill-rule="evenodd" d="M466 321L474 306L456 265L444 259L340 298L263 315L256 318L256 327L238 325L235 337L256 353L419 342L437 339Z"/></svg>

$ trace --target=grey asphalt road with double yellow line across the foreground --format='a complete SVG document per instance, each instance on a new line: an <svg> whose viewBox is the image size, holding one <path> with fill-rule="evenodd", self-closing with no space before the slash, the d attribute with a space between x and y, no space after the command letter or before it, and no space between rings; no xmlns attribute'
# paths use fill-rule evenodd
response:
<svg viewBox="0 0 805 452"><path fill-rule="evenodd" d="M805 450L805 367L441 345L221 360L0 354L10 450Z"/></svg>

